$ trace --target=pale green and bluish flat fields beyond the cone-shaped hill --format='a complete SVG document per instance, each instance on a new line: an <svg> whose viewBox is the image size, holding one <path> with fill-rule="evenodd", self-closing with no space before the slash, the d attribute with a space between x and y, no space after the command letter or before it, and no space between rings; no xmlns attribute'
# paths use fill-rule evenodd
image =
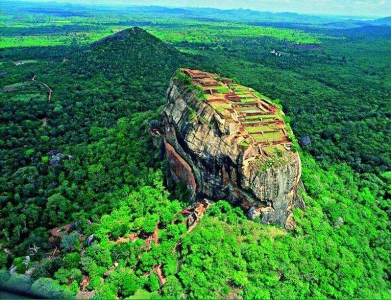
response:
<svg viewBox="0 0 391 300"><path fill-rule="evenodd" d="M7 3L7 2L6 2ZM34 4L32 4L34 5ZM15 13L11 7L11 13ZM34 8L28 10L32 11ZM173 19L159 14L143 16L139 12L124 17L110 12L88 12L88 16L61 16L61 14L22 13L18 18L6 15L0 43L2 47L85 45L130 26L141 26L160 39L173 43L184 51L198 53L188 44L217 46L242 38L268 37L286 43L320 44L324 34L308 33L300 29L249 25L240 22ZM27 26L28 24L28 26Z"/></svg>

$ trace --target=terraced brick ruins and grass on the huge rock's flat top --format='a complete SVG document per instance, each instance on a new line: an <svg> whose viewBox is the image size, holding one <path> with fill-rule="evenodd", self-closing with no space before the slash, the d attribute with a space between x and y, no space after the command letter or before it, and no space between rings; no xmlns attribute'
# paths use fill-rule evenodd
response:
<svg viewBox="0 0 391 300"><path fill-rule="evenodd" d="M215 73L186 68L181 71L192 79L193 85L203 89L206 102L226 122L237 125L237 131L232 133L234 142L244 151L257 149L258 154L249 150L251 155L245 155L245 159L267 158L291 150L282 112L268 98Z"/></svg>

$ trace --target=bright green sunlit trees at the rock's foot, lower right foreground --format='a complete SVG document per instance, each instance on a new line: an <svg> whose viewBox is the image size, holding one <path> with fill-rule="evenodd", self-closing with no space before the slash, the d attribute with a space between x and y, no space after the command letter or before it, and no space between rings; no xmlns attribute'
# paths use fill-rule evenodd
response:
<svg viewBox="0 0 391 300"><path fill-rule="evenodd" d="M227 202L215 203L182 242L186 258L179 277L187 294L194 298L388 297L387 283L377 281L379 274L387 272L382 260L387 251L384 243L372 245L379 231L365 233L373 222L386 230L386 213L380 207L373 209L375 198L368 189L358 191L346 166L324 171L308 155L302 160L303 179L314 197L303 195L307 209L295 211L295 231L260 225ZM352 235L353 231L357 233ZM380 265L385 268L378 269Z"/></svg>

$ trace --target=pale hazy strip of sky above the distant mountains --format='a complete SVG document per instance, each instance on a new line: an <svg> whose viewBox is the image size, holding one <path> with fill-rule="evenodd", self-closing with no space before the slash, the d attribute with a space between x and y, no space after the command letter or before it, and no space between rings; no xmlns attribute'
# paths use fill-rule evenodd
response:
<svg viewBox="0 0 391 300"><path fill-rule="evenodd" d="M39 0L35 0L39 1ZM391 0L55 0L56 2L250 8L312 14L388 16Z"/></svg>

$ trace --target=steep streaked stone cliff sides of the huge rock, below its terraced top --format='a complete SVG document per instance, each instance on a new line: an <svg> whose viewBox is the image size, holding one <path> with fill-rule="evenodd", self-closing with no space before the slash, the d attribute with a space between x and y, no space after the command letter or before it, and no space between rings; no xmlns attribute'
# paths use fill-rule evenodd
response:
<svg viewBox="0 0 391 300"><path fill-rule="evenodd" d="M222 82L232 83L228 78ZM290 140L284 136L273 155L266 152L274 149L271 144L261 147L254 139L249 145L243 143L243 136L248 134L241 128L241 121L222 117L200 96L199 89L188 84L176 76L170 80L168 102L162 111L164 144L173 179L187 182L193 200L227 199L241 204L252 219L259 216L263 223L294 226L292 208L304 208L304 202L299 192L301 161L290 149ZM204 90L204 94L213 94L211 87ZM265 114L278 109L271 103L267 105L271 112ZM237 116L234 114L233 118ZM276 118L272 122L285 125ZM286 132L285 126L283 130Z"/></svg>

